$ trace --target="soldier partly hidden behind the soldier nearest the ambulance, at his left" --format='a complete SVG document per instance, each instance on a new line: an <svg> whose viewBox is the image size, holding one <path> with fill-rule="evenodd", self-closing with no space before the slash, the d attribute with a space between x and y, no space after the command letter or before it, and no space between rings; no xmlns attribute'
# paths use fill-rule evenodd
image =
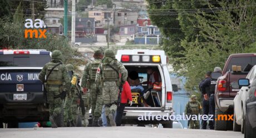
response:
<svg viewBox="0 0 256 138"><path fill-rule="evenodd" d="M96 72L97 68L101 63L101 59L103 58L101 50L96 50L93 58L95 60L86 64L83 78L82 78L82 88L83 92L86 93L87 89L90 90L90 101L92 106L92 117L93 122L92 126L99 126L98 121L101 116L102 111L102 86L95 84Z"/></svg>

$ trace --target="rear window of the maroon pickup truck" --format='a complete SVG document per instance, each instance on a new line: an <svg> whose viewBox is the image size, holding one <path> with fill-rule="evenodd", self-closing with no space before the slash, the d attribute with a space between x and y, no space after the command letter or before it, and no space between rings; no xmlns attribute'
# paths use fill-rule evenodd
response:
<svg viewBox="0 0 256 138"><path fill-rule="evenodd" d="M238 65L243 69L246 67L247 64L255 65L256 64L256 57L236 57L232 58L228 64L227 71L232 71L232 65Z"/></svg>

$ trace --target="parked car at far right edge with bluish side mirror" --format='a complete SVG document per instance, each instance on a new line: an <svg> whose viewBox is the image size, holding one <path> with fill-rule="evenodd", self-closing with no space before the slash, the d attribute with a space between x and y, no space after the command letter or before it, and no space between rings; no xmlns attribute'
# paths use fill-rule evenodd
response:
<svg viewBox="0 0 256 138"><path fill-rule="evenodd" d="M256 80L250 84L249 79L240 79L240 86L247 86L245 95L245 115L244 115L244 138L254 138L256 136Z"/></svg>

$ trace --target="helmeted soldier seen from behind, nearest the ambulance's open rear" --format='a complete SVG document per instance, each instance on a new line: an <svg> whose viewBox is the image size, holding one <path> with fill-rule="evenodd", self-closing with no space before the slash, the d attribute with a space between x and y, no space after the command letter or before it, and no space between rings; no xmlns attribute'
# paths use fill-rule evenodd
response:
<svg viewBox="0 0 256 138"><path fill-rule="evenodd" d="M115 54L111 49L106 49L104 59L97 69L96 85L102 85L102 96L105 104L105 114L107 122L111 126L116 126L112 113L116 112L119 86L127 79L127 70L124 65L115 59Z"/></svg>

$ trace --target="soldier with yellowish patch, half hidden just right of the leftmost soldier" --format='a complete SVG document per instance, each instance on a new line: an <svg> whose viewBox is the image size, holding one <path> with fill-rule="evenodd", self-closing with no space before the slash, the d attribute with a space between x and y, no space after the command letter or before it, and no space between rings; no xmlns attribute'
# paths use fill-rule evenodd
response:
<svg viewBox="0 0 256 138"><path fill-rule="evenodd" d="M75 120L77 115L77 103L76 103L76 98L78 93L77 84L81 77L80 75L75 74L73 72L74 70L73 65L68 64L66 65L66 67L68 70L68 74L70 75L70 78L71 78L71 90L68 91L67 93L67 97L65 99L65 103L63 107L64 108L64 125L75 126Z"/></svg>

